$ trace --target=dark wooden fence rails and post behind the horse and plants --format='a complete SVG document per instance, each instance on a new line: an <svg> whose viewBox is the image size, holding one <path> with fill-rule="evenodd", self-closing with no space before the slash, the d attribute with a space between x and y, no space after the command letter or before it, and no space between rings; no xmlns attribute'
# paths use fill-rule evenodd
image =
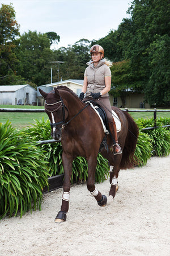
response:
<svg viewBox="0 0 170 256"><path fill-rule="evenodd" d="M156 113L157 112L170 112L170 110L157 110L157 109L152 109L152 110L145 110L145 109L140 109L140 110L131 110L131 109L124 109L123 111L127 112L154 112L154 127L147 127L143 128L142 130L149 130L149 129L156 129L158 126L156 126ZM20 112L20 113L43 113L44 109L12 109L12 108L0 108L0 112ZM170 127L170 125L164 125L162 127ZM54 139L49 139L47 141L38 141L37 144L47 144L47 143L54 143L56 142ZM53 191L54 189L60 188L63 185L63 174L61 175L56 175L53 177L48 178L48 183L49 187L45 187L43 189L43 193Z"/></svg>

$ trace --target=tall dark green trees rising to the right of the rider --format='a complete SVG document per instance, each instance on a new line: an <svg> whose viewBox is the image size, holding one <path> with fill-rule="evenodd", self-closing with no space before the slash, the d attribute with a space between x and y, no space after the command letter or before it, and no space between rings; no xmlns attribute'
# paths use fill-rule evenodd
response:
<svg viewBox="0 0 170 256"><path fill-rule="evenodd" d="M117 31L96 42L112 61L130 61L129 88L145 93L150 105L170 105L169 79L169 0L134 0ZM118 60L117 60L118 58ZM112 74L117 81L113 65ZM122 65L122 72L124 65ZM125 74L126 75L126 74ZM128 80L129 81L129 80ZM126 88L127 82L121 85ZM120 84L115 86L120 87Z"/></svg>

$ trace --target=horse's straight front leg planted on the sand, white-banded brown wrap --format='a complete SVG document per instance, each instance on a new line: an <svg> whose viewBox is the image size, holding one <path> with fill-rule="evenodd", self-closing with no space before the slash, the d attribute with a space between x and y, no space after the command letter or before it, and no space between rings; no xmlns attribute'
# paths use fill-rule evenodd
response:
<svg viewBox="0 0 170 256"><path fill-rule="evenodd" d="M55 222L61 223L66 221L66 214L69 210L69 201L70 201L70 179L72 171L73 158L71 155L67 155L64 152L62 153L62 164L64 170L64 181L63 181L63 193L62 193L62 204L61 210L58 212Z"/></svg>

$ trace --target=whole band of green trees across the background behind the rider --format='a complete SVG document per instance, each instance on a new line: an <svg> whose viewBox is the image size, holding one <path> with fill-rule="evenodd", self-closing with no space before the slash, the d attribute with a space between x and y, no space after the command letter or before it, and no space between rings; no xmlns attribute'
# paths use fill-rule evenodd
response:
<svg viewBox="0 0 170 256"><path fill-rule="evenodd" d="M0 84L48 84L51 68L53 81L58 77L83 79L90 47L97 43L113 61L111 94L119 95L122 104L130 89L144 93L150 105L169 106L169 0L134 0L127 12L130 18L123 19L117 30L111 29L104 38L92 42L80 39L73 46L56 50L51 47L60 40L56 32L20 35L12 4L2 5Z"/></svg>

